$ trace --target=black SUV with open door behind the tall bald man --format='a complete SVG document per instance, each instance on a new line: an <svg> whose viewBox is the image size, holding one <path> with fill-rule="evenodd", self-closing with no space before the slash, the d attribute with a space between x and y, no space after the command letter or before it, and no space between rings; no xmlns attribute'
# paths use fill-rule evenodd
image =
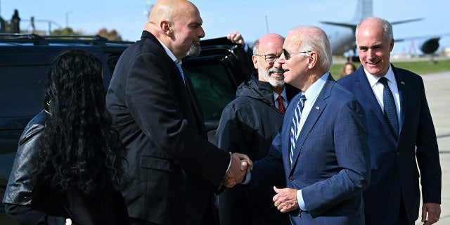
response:
<svg viewBox="0 0 450 225"><path fill-rule="evenodd" d="M13 166L18 140L27 123L42 109L46 72L56 56L69 49L83 49L103 61L105 88L115 63L133 42L104 37L51 37L36 34L0 34L0 200ZM221 112L236 96L236 88L255 70L240 45L225 37L200 42L200 56L185 58L200 104L208 138L215 142ZM0 224L15 224L0 203Z"/></svg>

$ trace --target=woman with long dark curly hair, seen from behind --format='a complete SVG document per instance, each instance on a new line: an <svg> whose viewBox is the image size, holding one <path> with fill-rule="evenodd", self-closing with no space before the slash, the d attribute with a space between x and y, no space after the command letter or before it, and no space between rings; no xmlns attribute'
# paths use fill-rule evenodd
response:
<svg viewBox="0 0 450 225"><path fill-rule="evenodd" d="M105 109L101 60L66 51L48 75L44 110L20 137L6 212L19 224L129 224L117 191L125 152Z"/></svg>

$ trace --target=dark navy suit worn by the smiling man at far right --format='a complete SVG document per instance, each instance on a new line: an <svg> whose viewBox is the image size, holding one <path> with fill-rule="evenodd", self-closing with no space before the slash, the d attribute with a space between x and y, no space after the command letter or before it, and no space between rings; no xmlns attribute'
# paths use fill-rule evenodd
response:
<svg viewBox="0 0 450 225"><path fill-rule="evenodd" d="M392 224L396 221L401 195L409 222L418 219L418 167L422 176L423 202L441 202L439 151L422 77L391 66L401 105L398 143L383 117L364 68L361 66L352 75L338 81L363 105L368 122L372 172L371 185L364 191L366 224Z"/></svg>

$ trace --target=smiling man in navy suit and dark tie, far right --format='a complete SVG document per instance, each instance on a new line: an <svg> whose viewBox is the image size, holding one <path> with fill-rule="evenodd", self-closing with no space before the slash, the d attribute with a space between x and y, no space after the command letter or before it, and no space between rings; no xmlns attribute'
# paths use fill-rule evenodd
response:
<svg viewBox="0 0 450 225"><path fill-rule="evenodd" d="M390 64L392 25L367 18L356 27L361 67L339 79L364 107L371 147L371 185L364 191L367 224L414 224L422 184L422 222L433 224L441 213L441 167L435 127L423 80ZM382 84L387 79L387 86ZM389 90L387 89L389 88ZM388 119L390 95L395 108ZM416 161L417 160L417 161ZM417 167L418 165L418 167Z"/></svg>

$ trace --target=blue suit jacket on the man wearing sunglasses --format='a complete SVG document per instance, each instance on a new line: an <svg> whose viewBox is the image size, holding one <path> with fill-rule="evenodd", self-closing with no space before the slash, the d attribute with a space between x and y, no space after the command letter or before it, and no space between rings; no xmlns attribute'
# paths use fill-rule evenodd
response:
<svg viewBox="0 0 450 225"><path fill-rule="evenodd" d="M362 191L370 179L366 117L361 105L329 75L297 139L290 166L290 127L300 94L288 107L268 157L255 162L250 185L284 172L302 189L309 212L290 212L293 224L363 224Z"/></svg>

